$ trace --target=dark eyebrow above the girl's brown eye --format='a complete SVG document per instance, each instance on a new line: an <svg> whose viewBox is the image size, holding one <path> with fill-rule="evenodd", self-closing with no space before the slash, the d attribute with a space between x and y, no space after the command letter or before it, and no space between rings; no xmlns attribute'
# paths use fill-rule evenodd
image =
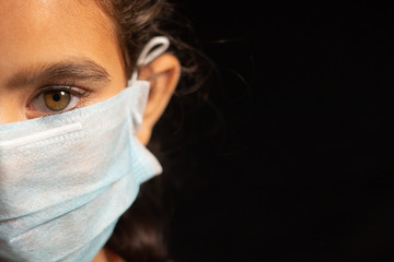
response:
<svg viewBox="0 0 394 262"><path fill-rule="evenodd" d="M13 74L7 83L8 86L18 88L31 84L67 80L82 80L104 85L111 82L111 75L104 67L91 59L83 58L25 68Z"/></svg>

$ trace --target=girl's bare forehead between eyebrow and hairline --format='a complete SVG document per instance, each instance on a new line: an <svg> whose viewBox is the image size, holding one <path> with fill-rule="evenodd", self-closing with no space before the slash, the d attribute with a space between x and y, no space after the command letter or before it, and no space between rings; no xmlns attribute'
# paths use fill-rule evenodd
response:
<svg viewBox="0 0 394 262"><path fill-rule="evenodd" d="M0 81L33 63L88 57L112 64L113 23L94 0L0 0Z"/></svg>

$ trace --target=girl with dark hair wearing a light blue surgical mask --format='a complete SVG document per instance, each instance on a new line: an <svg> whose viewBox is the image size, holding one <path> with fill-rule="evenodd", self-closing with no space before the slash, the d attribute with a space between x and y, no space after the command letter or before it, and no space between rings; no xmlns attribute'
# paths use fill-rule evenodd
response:
<svg viewBox="0 0 394 262"><path fill-rule="evenodd" d="M152 177L212 72L172 15L164 0L0 0L0 261L167 261Z"/></svg>

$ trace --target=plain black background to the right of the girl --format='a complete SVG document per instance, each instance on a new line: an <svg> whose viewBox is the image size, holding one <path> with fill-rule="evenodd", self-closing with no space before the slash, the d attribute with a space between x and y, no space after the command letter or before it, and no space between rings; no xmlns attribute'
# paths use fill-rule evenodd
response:
<svg viewBox="0 0 394 262"><path fill-rule="evenodd" d="M178 2L223 74L228 136L177 200L175 258L393 259L391 5Z"/></svg>

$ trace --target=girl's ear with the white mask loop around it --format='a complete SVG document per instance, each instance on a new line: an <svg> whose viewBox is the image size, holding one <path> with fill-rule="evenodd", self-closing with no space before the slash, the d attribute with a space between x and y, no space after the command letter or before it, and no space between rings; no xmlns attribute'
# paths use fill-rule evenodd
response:
<svg viewBox="0 0 394 262"><path fill-rule="evenodd" d="M147 145L154 124L163 115L179 81L181 63L176 57L164 53L139 71L140 80L150 81L149 98L137 138Z"/></svg>

